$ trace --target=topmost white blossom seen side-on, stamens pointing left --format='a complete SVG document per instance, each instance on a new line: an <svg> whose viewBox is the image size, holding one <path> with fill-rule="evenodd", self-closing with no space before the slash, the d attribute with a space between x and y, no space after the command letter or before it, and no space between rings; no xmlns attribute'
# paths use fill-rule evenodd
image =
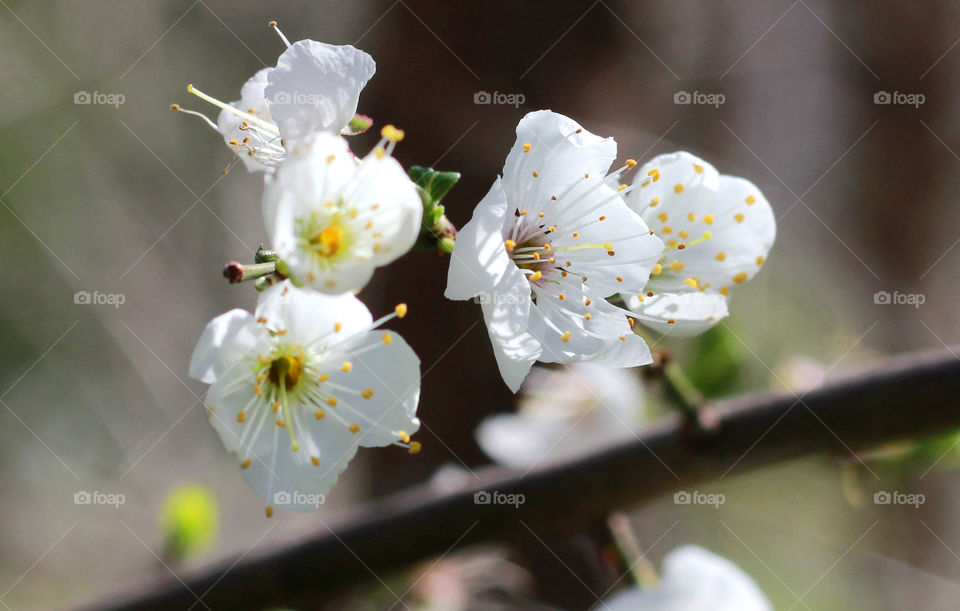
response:
<svg viewBox="0 0 960 611"><path fill-rule="evenodd" d="M227 146L250 171L269 170L287 154L287 147L317 131L353 133L360 91L376 71L373 58L351 45L315 40L293 44L271 22L287 45L274 68L253 75L240 90L240 99L226 104L190 85L187 91L221 109L216 123Z"/></svg>

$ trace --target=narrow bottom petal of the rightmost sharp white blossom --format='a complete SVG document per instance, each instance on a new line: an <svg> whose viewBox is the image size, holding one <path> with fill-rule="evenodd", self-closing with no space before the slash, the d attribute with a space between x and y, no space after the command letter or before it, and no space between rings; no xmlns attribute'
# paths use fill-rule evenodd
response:
<svg viewBox="0 0 960 611"><path fill-rule="evenodd" d="M661 333L688 337L702 333L727 317L727 300L717 293L687 291L658 293L626 299L627 307L640 314L641 323ZM670 323L668 321L673 320Z"/></svg>

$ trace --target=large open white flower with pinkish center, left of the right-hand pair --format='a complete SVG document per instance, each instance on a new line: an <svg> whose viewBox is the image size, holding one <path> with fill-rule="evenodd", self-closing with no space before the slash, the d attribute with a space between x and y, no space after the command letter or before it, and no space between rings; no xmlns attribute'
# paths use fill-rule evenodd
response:
<svg viewBox="0 0 960 611"><path fill-rule="evenodd" d="M606 297L639 293L663 244L623 200L617 155L550 111L528 114L498 178L457 236L449 299L479 296L504 381L520 387L536 360L650 362L624 311Z"/></svg>

